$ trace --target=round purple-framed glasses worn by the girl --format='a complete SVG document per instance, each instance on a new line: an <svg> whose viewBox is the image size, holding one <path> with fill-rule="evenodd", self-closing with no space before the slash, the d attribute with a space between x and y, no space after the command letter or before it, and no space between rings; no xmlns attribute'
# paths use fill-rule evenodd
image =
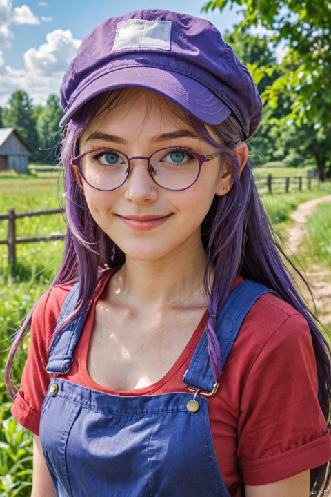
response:
<svg viewBox="0 0 331 497"><path fill-rule="evenodd" d="M119 150L98 148L84 152L71 161L81 177L92 188L101 191L116 190L126 182L131 161L148 161L148 171L156 184L166 190L181 191L190 188L198 179L201 166L221 154L201 155L188 148L161 148L150 157L127 157Z"/></svg>

